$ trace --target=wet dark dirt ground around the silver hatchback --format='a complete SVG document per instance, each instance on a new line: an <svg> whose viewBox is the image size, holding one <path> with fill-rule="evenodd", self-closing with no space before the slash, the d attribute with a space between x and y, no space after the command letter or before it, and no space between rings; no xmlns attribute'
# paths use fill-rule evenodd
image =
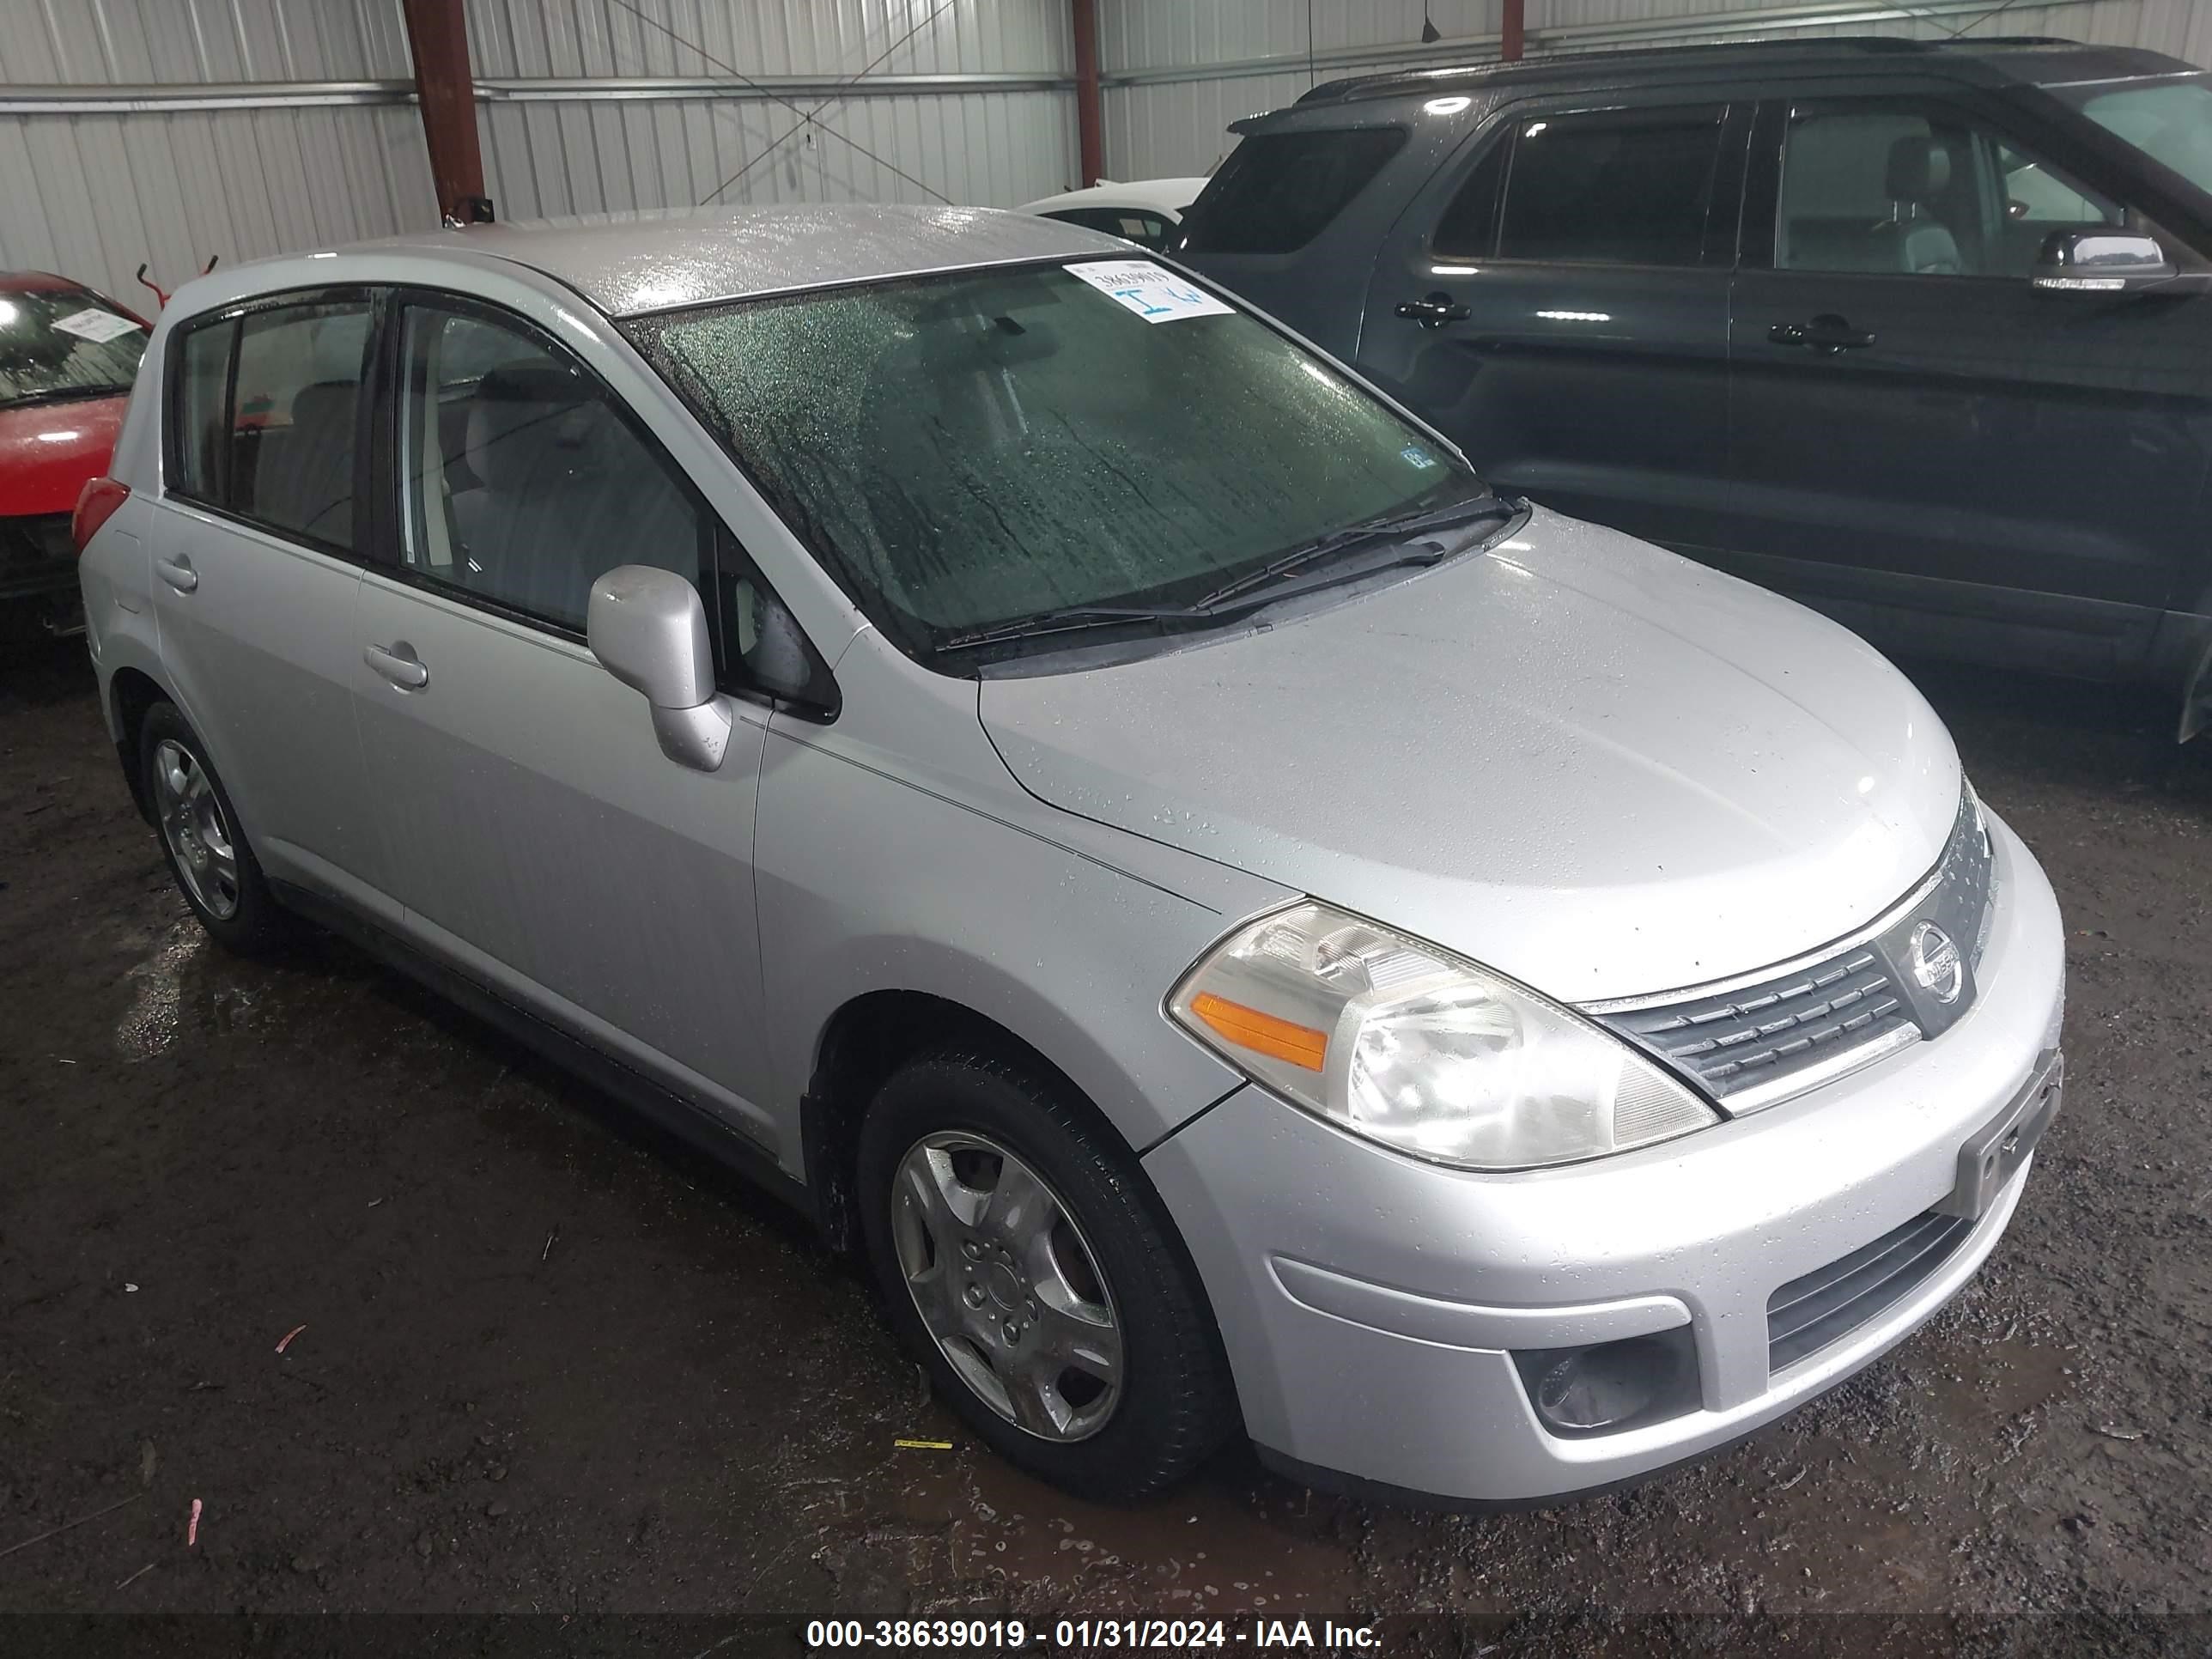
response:
<svg viewBox="0 0 2212 1659"><path fill-rule="evenodd" d="M1387 1628L1566 1652L1637 1615L1717 1650L1847 1613L1865 1652L2203 1652L2212 752L2141 699L1922 679L2070 942L2066 1110L1971 1290L1624 1495L1405 1513L1234 1451L1121 1513L980 1451L860 1279L737 1179L336 942L208 947L82 648L15 650L0 1615L712 1615L699 1650L741 1615L1425 1613Z"/></svg>

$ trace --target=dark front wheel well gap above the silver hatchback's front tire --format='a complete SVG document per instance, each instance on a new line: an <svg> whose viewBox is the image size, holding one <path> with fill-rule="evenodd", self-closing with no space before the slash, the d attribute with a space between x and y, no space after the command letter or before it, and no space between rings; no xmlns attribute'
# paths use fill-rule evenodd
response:
<svg viewBox="0 0 2212 1659"><path fill-rule="evenodd" d="M849 1250L858 1241L852 1188L867 1104L894 1071L942 1044L971 1044L1015 1060L1062 1084L1084 1106L1091 1104L1060 1066L973 1009L927 991L869 991L854 998L823 1029L814 1077L801 1104L807 1186L814 1188L814 1212L832 1250ZM1104 1133L1113 1133L1104 1115L1097 1121Z"/></svg>

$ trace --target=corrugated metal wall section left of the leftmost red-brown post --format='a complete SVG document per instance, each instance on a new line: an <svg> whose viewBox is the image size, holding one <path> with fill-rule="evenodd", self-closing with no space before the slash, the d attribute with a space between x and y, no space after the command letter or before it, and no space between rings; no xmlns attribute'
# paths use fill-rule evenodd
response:
<svg viewBox="0 0 2212 1659"><path fill-rule="evenodd" d="M82 106L148 84L181 95L405 75L394 0L0 0L9 108L27 86L84 93L69 100ZM210 91L208 102L230 97ZM62 270L124 303L153 303L131 276L139 261L175 288L215 254L252 259L434 219L422 126L389 100L0 113L0 270Z"/></svg>

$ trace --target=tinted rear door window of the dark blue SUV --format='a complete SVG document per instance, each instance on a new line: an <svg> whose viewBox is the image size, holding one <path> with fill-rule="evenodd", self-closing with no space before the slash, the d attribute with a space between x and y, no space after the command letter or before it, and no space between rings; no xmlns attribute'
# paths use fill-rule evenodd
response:
<svg viewBox="0 0 2212 1659"><path fill-rule="evenodd" d="M1705 254L1725 108L1637 108L1524 119L1513 133L1500 259L1697 265ZM1480 221L1475 199L1467 223ZM1458 215L1447 212L1447 223ZM1480 252L1462 248L1455 252Z"/></svg>

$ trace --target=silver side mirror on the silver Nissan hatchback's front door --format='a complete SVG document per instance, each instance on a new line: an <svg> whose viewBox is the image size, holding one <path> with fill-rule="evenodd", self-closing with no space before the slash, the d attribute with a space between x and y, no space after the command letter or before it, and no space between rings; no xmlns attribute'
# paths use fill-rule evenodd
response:
<svg viewBox="0 0 2212 1659"><path fill-rule="evenodd" d="M661 754L699 772L721 765L730 708L714 690L699 588L675 571L617 564L591 584L584 637L606 672L646 695Z"/></svg>

